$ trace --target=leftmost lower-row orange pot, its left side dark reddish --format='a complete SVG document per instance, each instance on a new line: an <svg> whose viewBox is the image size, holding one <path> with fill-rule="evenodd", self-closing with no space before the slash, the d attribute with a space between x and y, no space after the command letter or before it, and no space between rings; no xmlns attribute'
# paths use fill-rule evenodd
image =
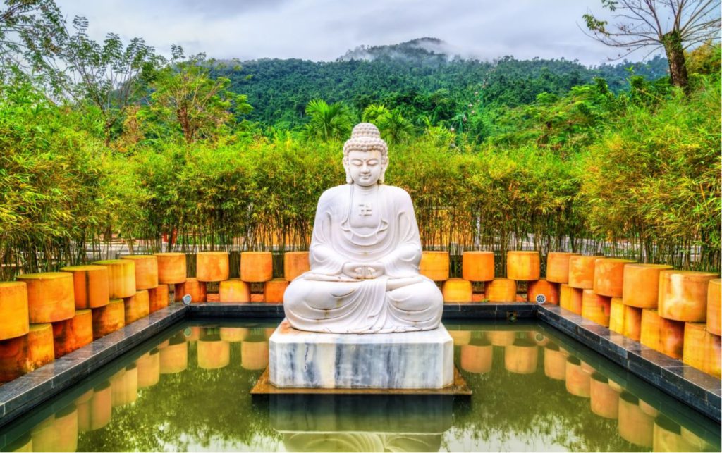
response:
<svg viewBox="0 0 722 453"><path fill-rule="evenodd" d="M0 382L9 382L55 359L53 325L31 324L26 335L0 341Z"/></svg>

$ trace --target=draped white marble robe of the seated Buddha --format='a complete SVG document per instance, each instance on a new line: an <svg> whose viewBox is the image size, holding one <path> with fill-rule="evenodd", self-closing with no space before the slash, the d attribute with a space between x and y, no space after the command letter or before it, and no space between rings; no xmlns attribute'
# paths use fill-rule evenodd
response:
<svg viewBox="0 0 722 453"><path fill-rule="evenodd" d="M352 227L353 185L321 195L309 251L310 271L295 278L284 294L292 327L330 333L388 333L438 327L443 297L436 284L419 275L421 240L411 197L405 190L378 185L374 209L378 226ZM346 263L383 265L378 278L349 278ZM388 290L389 279L413 283Z"/></svg>

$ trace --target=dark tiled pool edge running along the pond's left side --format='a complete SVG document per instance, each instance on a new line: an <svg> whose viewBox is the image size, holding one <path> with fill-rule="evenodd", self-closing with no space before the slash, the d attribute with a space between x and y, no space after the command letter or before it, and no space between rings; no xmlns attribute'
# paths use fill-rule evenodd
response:
<svg viewBox="0 0 722 453"><path fill-rule="evenodd" d="M166 327L186 317L186 307L171 305L98 338L32 373L0 387L0 426L87 377Z"/></svg>

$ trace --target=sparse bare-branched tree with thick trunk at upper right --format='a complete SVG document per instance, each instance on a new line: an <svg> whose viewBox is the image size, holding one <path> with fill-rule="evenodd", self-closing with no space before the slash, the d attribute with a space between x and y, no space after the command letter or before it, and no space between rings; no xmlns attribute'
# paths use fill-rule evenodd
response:
<svg viewBox="0 0 722 453"><path fill-rule="evenodd" d="M593 14L583 18L591 36L612 47L625 48L619 58L640 48L664 48L672 84L689 88L684 50L719 38L720 0L601 0L615 23ZM650 52L650 53L651 53Z"/></svg>

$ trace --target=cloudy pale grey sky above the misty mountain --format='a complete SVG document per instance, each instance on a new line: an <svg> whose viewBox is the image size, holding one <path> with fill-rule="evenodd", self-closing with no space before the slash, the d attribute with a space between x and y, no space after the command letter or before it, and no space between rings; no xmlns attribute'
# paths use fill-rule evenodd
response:
<svg viewBox="0 0 722 453"><path fill-rule="evenodd" d="M491 60L567 58L598 64L617 56L580 30L600 0L58 0L90 35L144 38L170 56L303 58L332 61L358 45L440 38L453 53ZM636 57L640 59L644 54ZM632 57L633 58L633 57Z"/></svg>

